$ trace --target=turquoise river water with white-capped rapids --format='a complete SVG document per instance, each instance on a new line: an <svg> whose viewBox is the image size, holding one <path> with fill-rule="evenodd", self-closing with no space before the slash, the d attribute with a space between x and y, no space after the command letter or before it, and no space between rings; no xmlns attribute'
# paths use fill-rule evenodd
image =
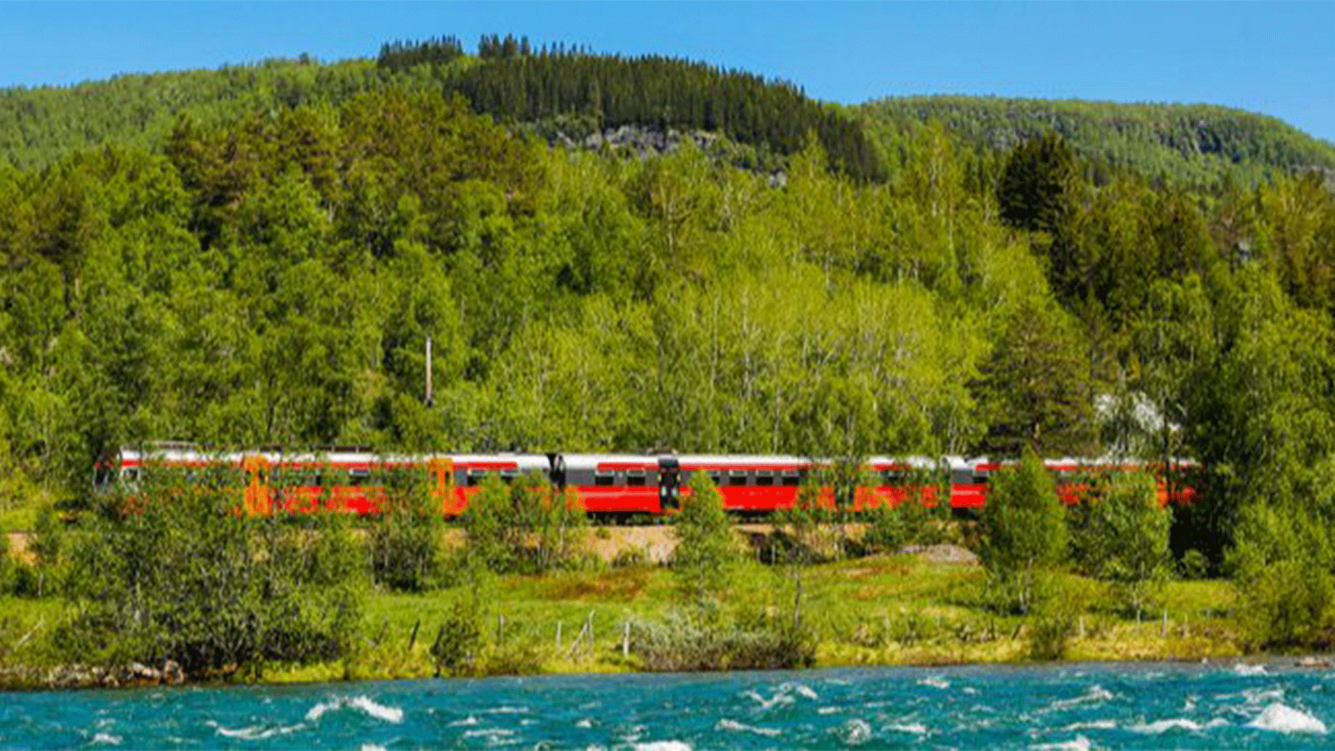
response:
<svg viewBox="0 0 1335 751"><path fill-rule="evenodd" d="M1164 664L11 694L20 748L1310 748L1335 673Z"/></svg>

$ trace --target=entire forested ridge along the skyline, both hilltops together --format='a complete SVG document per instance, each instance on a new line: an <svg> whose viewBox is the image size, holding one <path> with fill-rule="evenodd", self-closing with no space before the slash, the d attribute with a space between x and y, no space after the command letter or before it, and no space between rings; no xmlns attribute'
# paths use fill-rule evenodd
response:
<svg viewBox="0 0 1335 751"><path fill-rule="evenodd" d="M386 87L459 92L478 112L549 136L579 139L626 124L721 132L745 144L733 162L766 170L781 168L814 132L832 166L860 179L886 176L893 171L886 160L902 167L913 131L928 122L943 123L961 146L989 154L995 164L1024 139L1055 130L1100 183L1127 171L1218 192L1228 179L1256 184L1295 171L1335 170L1328 143L1227 107L929 96L832 108L792 84L740 71L499 35L485 35L475 55L443 35L387 43L368 60L320 63L303 55L216 71L3 90L0 160L33 167L91 146L159 148L180 115L224 126L244 112L340 107Z"/></svg>

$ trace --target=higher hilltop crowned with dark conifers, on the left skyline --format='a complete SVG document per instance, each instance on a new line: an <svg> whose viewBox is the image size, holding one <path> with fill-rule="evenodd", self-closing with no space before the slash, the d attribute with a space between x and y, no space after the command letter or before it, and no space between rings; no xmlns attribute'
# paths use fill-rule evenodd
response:
<svg viewBox="0 0 1335 751"><path fill-rule="evenodd" d="M646 56L530 48L485 37L478 56L458 40L387 44L379 57L320 64L310 57L156 75L125 75L69 88L0 91L0 160L45 166L73 148L160 147L182 116L234 123L243 114L302 104L338 107L368 91L458 94L474 111L545 134L585 136L603 128L717 132L745 144L737 160L780 168L808 132L832 164L860 179L884 176L860 126L797 87L741 71Z"/></svg>

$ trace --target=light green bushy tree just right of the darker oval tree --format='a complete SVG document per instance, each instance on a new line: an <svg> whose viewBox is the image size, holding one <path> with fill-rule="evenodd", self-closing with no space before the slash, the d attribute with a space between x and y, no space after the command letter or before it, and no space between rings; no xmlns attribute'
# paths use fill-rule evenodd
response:
<svg viewBox="0 0 1335 751"><path fill-rule="evenodd" d="M1071 517L1080 568L1111 584L1137 619L1153 609L1169 576L1172 524L1168 509L1159 505L1153 476L1104 473Z"/></svg>

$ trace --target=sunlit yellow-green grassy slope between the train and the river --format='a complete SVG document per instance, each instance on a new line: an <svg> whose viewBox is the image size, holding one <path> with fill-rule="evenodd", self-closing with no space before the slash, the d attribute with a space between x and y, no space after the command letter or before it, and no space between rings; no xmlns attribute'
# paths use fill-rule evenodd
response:
<svg viewBox="0 0 1335 751"><path fill-rule="evenodd" d="M733 605L782 608L792 585L785 572L748 565L737 577ZM1236 624L1227 613L1232 591L1223 581L1172 583L1167 589L1167 636L1157 616L1136 623L1099 601L1097 584L1067 577L1068 592L1083 603L1068 657L1079 660L1200 659L1240 653ZM804 612L820 637L820 665L991 663L1027 659L1025 620L996 616L980 605L983 571L977 567L926 564L912 556L878 556L806 569ZM350 664L271 669L267 680L339 678L422 678L431 675L427 649L459 591L422 596L374 595L367 608L367 640L379 644ZM547 577L503 577L485 592L486 649L497 652L498 616L503 616L510 651L538 657L542 672L611 672L638 668L634 655L622 659L626 620L668 616L676 607L669 569L631 567L597 573ZM571 637L593 613L595 645L569 656ZM407 651L413 627L417 644ZM555 648L562 624L562 651ZM1019 632L1017 632L1019 631Z"/></svg>

